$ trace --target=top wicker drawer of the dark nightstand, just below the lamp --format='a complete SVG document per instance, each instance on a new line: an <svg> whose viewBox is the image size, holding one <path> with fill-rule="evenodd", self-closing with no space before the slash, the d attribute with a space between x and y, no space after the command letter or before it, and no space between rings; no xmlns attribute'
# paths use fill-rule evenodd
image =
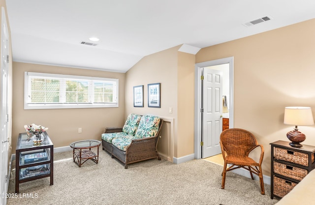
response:
<svg viewBox="0 0 315 205"><path fill-rule="evenodd" d="M292 162L295 164L300 164L306 167L309 166L309 155L306 153L275 147L274 157L276 159ZM312 162L314 162L313 153L312 153Z"/></svg>

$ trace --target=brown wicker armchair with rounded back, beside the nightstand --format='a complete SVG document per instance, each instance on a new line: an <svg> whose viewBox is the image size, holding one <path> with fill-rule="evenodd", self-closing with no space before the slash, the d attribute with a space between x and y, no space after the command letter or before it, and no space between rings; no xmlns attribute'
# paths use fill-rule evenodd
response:
<svg viewBox="0 0 315 205"><path fill-rule="evenodd" d="M261 194L265 194L264 182L261 172L264 148L261 145L257 145L255 136L251 132L244 129L226 129L221 133L220 145L224 159L221 184L222 189L224 189L226 172L238 168L244 168L250 172L252 179L252 174L259 176L260 191ZM257 163L251 157L249 157L249 153L258 146L261 148L261 153L259 162ZM227 168L227 164L231 164L231 166Z"/></svg>

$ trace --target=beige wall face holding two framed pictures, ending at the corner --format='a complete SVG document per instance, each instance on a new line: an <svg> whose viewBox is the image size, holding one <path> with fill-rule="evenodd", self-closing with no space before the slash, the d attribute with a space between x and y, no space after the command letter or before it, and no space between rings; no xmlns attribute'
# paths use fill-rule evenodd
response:
<svg viewBox="0 0 315 205"><path fill-rule="evenodd" d="M141 59L126 72L125 118L130 113L139 115L158 115L174 118L177 127L177 53L180 46L161 51ZM148 84L160 83L161 107L148 107ZM133 107L133 87L143 85L144 107ZM172 114L169 108L173 108ZM170 157L170 123L165 122L158 142L158 151L162 157ZM176 136L176 128L175 128ZM176 140L174 142L176 147ZM174 151L176 153L176 151Z"/></svg>

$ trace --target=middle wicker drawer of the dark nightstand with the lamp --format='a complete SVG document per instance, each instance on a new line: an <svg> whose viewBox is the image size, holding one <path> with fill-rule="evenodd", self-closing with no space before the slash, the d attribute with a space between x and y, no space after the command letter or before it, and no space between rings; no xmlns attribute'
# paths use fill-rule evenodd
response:
<svg viewBox="0 0 315 205"><path fill-rule="evenodd" d="M307 175L307 170L274 162L274 173L301 181Z"/></svg>

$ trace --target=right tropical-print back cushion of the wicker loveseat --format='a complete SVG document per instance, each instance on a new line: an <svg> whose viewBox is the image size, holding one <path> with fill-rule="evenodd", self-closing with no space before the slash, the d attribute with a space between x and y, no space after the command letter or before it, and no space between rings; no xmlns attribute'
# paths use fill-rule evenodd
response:
<svg viewBox="0 0 315 205"><path fill-rule="evenodd" d="M158 116L142 116L134 136L137 138L156 136L159 122L160 118Z"/></svg>

